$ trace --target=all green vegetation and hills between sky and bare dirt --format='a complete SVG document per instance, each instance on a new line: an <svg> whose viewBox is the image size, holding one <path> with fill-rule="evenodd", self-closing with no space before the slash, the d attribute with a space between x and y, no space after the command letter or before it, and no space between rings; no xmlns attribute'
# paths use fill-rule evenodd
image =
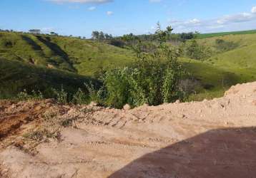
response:
<svg viewBox="0 0 256 178"><path fill-rule="evenodd" d="M0 98L56 98L59 103L76 104L94 100L117 108L124 103L167 102L164 90L171 88L164 83L170 58L164 51L167 47L187 71L176 91L182 88L188 100L218 97L230 85L256 78L256 34L239 33L211 38L199 33L167 34L167 43L159 46L157 33L92 41L1 31ZM57 94L61 90L67 94L63 100ZM180 97L176 93L168 102Z"/></svg>

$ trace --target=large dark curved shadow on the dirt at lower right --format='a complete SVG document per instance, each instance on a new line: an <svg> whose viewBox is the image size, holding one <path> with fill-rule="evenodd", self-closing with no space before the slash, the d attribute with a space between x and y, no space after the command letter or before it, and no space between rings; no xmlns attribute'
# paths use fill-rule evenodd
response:
<svg viewBox="0 0 256 178"><path fill-rule="evenodd" d="M256 127L210 130L149 153L109 178L256 177Z"/></svg>

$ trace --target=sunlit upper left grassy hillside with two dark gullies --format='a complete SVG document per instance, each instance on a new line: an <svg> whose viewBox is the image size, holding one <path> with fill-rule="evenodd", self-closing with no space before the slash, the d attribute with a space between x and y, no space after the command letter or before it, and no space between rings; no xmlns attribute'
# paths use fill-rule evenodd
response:
<svg viewBox="0 0 256 178"><path fill-rule="evenodd" d="M0 32L0 57L93 75L99 68L124 66L132 52L104 43L61 36Z"/></svg>

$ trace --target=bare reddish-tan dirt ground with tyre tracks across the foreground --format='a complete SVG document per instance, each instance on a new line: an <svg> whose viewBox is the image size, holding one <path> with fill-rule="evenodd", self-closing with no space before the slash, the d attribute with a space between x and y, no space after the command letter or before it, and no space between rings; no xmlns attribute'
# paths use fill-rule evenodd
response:
<svg viewBox="0 0 256 178"><path fill-rule="evenodd" d="M0 101L0 177L256 177L255 150L256 83L132 110Z"/></svg>

